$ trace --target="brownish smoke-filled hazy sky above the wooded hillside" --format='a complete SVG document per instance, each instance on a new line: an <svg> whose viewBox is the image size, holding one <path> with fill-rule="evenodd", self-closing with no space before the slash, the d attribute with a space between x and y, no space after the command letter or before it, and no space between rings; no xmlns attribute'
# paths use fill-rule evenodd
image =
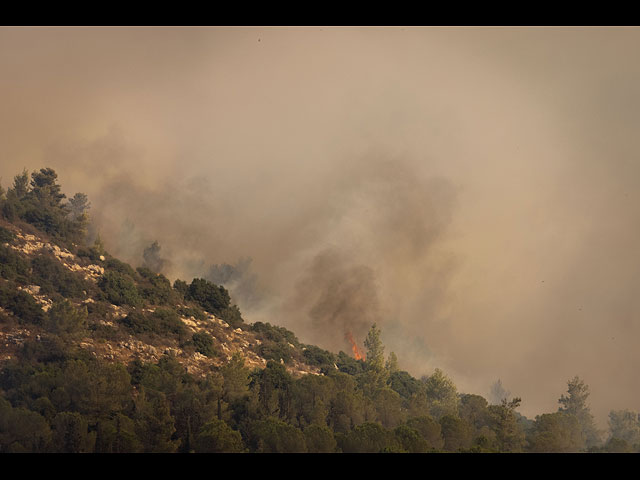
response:
<svg viewBox="0 0 640 480"><path fill-rule="evenodd" d="M250 257L249 322L533 417L640 410L640 29L0 28L0 176L54 168L170 278Z"/></svg>

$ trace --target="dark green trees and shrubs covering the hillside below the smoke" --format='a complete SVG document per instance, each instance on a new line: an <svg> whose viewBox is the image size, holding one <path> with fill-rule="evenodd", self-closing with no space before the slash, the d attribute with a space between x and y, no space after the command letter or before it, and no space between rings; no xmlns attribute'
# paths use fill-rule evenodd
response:
<svg viewBox="0 0 640 480"><path fill-rule="evenodd" d="M363 358L301 343L270 323L245 322L229 291L204 278L173 283L161 272L159 246L141 266L89 240L87 195L62 193L56 172L23 171L0 186L0 331L19 343L0 363L0 452L68 453L567 453L640 452L637 412L611 410L602 431L584 379L567 380L558 409L529 419L523 399L458 391L436 368L415 378L386 352L371 325ZM42 251L21 253L16 232L37 233L102 268L95 282ZM92 263L93 264L93 263ZM42 308L28 291L51 299ZM125 312L107 326L105 312ZM251 332L264 368L247 366L182 317L210 313ZM15 331L33 335L18 338ZM156 362L91 355L82 342L171 339L187 352L218 359L204 375L189 373L169 352ZM5 348L0 344L0 352ZM304 362L318 374L293 375ZM500 385L497 385L500 390Z"/></svg>

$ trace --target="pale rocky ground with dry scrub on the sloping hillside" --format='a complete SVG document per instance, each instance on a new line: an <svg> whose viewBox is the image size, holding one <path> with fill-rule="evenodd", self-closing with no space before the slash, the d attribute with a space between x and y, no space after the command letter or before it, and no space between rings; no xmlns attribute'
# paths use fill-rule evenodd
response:
<svg viewBox="0 0 640 480"><path fill-rule="evenodd" d="M77 309L86 308L88 312L86 329L84 334L77 337L75 341L78 346L91 352L95 357L127 364L134 358L144 362L156 362L164 354L173 354L189 373L196 375L204 375L211 371L212 367L219 367L226 363L234 353L242 354L245 364L250 368L266 366L268 359L264 356L266 351L264 342L273 347L273 338L269 339L268 330L277 331L277 327L261 325L263 331L255 331L256 329L251 325L241 324L234 328L214 313L184 299L180 299L181 301L173 305L168 305L167 302L163 302L164 305L158 305L149 301L136 306L128 305L126 302L117 302L120 303L119 305L112 303L108 295L105 298L105 273L108 274L117 269L136 273L131 267L109 257L108 254L88 252L87 256L86 251L71 245L72 248L75 247L74 253L68 248L57 245L46 234L38 232L30 225L19 226L2 222L0 227L11 234L9 236L12 238L4 242L2 247L13 253L13 255L5 255L13 263L20 265L22 262L28 266L33 262L39 264L48 262L48 270L52 271L55 271L57 264L64 268L64 273L69 274L67 276L57 272L57 280L72 283L69 279L74 279L76 283L83 286L81 293L74 295L75 298L65 297L65 299ZM52 262L55 263L50 265ZM123 267L123 265L126 266ZM29 295L43 312L48 312L54 301L61 301L61 295L56 292L56 288L46 285L50 283L47 280L50 281L51 278L34 272L33 266L25 273L16 282L16 288ZM143 273L149 274L149 272ZM43 277L45 277L44 280ZM136 278L135 275L133 277ZM161 275L157 277L163 279ZM8 286L6 279L0 279L0 282ZM131 322L126 321L133 313L150 317L158 309L167 311L169 306L171 311L179 312L177 318L183 326L181 333L177 336L153 334L153 328L147 329L148 332L132 329ZM0 307L0 313L9 318L18 316L6 306ZM189 315L189 313L193 314ZM25 319L20 318L15 320L17 321L0 323L0 362L14 357L16 351L27 339L39 341L46 333L45 327L38 325L37 322L26 322ZM209 355L202 354L189 340L193 338L193 334L203 332L212 339L210 351L214 353ZM265 332L267 338L265 338ZM281 357L279 360L285 364L293 376L320 373L318 366L305 362L306 346L298 342L296 344L279 342L277 346L287 350L286 355L282 356L285 358ZM273 348L268 349L271 353L273 350ZM271 359L273 358L271 355Z"/></svg>

